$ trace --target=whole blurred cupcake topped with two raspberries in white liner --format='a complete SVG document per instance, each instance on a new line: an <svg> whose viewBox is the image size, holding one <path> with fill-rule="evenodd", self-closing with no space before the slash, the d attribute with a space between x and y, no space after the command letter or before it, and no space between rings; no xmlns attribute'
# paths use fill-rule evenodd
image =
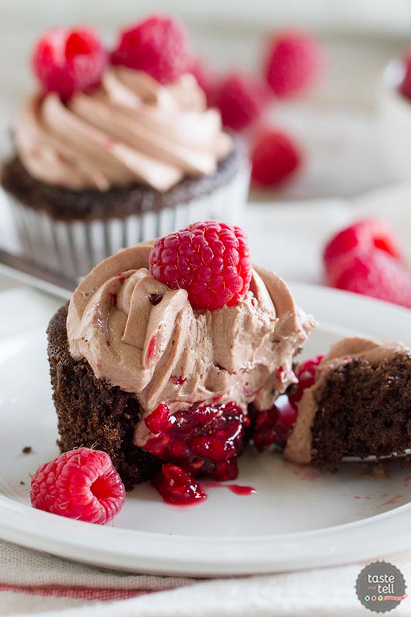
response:
<svg viewBox="0 0 411 617"><path fill-rule="evenodd" d="M192 220L238 219L247 164L191 63L188 35L165 16L125 29L112 53L90 28L38 41L41 90L23 101L1 173L35 261L83 276Z"/></svg>

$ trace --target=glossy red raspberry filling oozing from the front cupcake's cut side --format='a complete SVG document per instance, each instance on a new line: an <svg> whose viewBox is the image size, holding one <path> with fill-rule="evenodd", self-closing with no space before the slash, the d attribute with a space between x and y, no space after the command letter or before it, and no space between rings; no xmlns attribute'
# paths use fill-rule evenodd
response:
<svg viewBox="0 0 411 617"><path fill-rule="evenodd" d="M160 404L145 424L155 437L144 448L193 476L233 480L238 475L237 452L249 418L234 402L192 405L169 413Z"/></svg>

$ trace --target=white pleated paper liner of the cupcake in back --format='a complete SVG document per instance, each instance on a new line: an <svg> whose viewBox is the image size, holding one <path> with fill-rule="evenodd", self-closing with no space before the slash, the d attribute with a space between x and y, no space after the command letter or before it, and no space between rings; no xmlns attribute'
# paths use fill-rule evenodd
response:
<svg viewBox="0 0 411 617"><path fill-rule="evenodd" d="M216 219L241 224L248 186L249 169L244 165L232 180L210 195L125 219L58 221L15 200L12 211L25 255L73 278L85 276L121 248L164 236L194 221Z"/></svg>

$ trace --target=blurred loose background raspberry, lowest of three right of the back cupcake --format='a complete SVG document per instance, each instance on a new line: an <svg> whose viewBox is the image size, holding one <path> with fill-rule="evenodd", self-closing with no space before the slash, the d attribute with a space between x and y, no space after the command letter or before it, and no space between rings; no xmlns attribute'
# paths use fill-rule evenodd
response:
<svg viewBox="0 0 411 617"><path fill-rule="evenodd" d="M281 184L301 165L299 148L283 132L264 130L251 152L251 178L264 186Z"/></svg>

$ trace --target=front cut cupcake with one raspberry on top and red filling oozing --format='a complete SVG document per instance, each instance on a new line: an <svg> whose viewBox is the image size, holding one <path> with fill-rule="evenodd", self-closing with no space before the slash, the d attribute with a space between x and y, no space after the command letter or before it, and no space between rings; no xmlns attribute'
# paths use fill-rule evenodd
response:
<svg viewBox="0 0 411 617"><path fill-rule="evenodd" d="M163 463L234 479L251 404L270 409L295 383L314 326L281 278L251 267L239 228L195 223L122 250L49 325L60 448L95 444L127 488Z"/></svg>

